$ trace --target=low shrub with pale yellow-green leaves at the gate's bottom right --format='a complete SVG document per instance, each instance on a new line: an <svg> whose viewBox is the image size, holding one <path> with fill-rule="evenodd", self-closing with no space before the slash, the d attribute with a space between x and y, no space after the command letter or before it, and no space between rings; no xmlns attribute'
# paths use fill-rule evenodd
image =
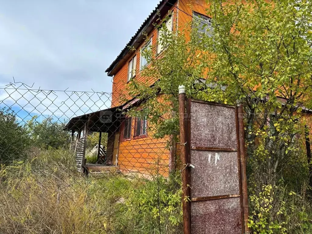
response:
<svg viewBox="0 0 312 234"><path fill-rule="evenodd" d="M264 185L250 196L250 205L249 227L254 234L312 232L311 203L285 185Z"/></svg>

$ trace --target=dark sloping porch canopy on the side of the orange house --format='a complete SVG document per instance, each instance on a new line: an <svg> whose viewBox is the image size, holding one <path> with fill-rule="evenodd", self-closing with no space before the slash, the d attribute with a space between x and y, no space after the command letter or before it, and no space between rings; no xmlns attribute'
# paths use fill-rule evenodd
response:
<svg viewBox="0 0 312 234"><path fill-rule="evenodd" d="M119 129L123 119L124 115L118 106L74 117L63 130L79 132L87 124L89 132L115 132L116 129Z"/></svg>

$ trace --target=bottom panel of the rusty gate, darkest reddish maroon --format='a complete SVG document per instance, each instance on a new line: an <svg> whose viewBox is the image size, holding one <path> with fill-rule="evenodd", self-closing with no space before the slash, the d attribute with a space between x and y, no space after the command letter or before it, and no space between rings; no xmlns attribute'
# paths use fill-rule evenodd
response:
<svg viewBox="0 0 312 234"><path fill-rule="evenodd" d="M192 234L241 234L240 198L192 202Z"/></svg>

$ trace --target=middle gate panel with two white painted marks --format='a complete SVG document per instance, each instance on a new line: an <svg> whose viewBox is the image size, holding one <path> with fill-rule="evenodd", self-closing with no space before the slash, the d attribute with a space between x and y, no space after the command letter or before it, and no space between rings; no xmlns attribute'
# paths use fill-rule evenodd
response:
<svg viewBox="0 0 312 234"><path fill-rule="evenodd" d="M237 152L192 150L191 197L239 195Z"/></svg>

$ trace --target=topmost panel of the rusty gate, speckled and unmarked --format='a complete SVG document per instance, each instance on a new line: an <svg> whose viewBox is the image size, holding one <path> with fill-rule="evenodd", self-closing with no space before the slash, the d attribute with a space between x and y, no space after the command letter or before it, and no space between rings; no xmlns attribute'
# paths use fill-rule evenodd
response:
<svg viewBox="0 0 312 234"><path fill-rule="evenodd" d="M201 147L237 150L235 108L192 102L191 149Z"/></svg>

